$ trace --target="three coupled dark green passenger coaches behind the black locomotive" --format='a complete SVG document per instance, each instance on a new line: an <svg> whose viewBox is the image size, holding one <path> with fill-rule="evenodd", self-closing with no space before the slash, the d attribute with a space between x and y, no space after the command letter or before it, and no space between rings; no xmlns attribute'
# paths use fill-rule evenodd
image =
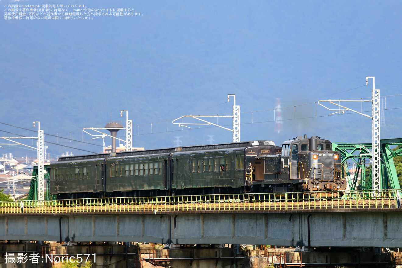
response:
<svg viewBox="0 0 402 268"><path fill-rule="evenodd" d="M257 155L272 141L248 141L59 158L50 191L59 199L242 192Z"/></svg>

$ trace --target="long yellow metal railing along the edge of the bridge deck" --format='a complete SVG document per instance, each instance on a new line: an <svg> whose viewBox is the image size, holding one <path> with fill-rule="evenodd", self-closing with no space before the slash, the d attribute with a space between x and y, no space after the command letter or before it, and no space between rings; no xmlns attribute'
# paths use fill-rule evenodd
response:
<svg viewBox="0 0 402 268"><path fill-rule="evenodd" d="M392 189L1 201L0 214L392 209L400 208L400 193Z"/></svg>

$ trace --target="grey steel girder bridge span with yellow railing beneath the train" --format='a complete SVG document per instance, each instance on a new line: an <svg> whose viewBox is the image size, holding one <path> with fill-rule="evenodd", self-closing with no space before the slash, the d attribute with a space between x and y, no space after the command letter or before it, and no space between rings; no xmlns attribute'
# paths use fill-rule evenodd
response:
<svg viewBox="0 0 402 268"><path fill-rule="evenodd" d="M398 191L3 201L0 240L401 247Z"/></svg>

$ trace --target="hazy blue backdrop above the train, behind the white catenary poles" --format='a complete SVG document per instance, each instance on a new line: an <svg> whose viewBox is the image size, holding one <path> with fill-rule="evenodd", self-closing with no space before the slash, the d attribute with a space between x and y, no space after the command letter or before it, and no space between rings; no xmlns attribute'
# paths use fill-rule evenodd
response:
<svg viewBox="0 0 402 268"><path fill-rule="evenodd" d="M122 120L121 109L129 110L137 134L142 134L133 137L136 147L171 147L177 137L183 145L205 144L211 135L214 142L230 142L232 134L223 129L177 131L171 123L182 115L231 113L227 94L236 94L240 105L242 141L278 144L307 134L370 142L371 122L361 115L327 117L330 112L318 106L322 117L314 118L318 100L370 97L372 86L370 81L365 86L365 76L375 76L381 96L388 96L381 136L400 137L401 96L392 96L402 93L400 1L0 4L85 4L143 14L57 21L5 20L2 14L1 122L35 130L31 122L41 121L45 133L70 137L71 132L74 139L96 144L64 141L66 146L99 151L100 139L91 141L82 128ZM270 110L277 98L291 107L282 110L281 133L275 131ZM382 101L385 104L385 98ZM298 119L291 120L295 105ZM360 110L360 104L353 107ZM148 134L151 122L159 122L153 123L152 132L160 133ZM221 123L230 125L231 120ZM0 130L32 135L7 125ZM61 143L55 137L46 139ZM66 150L85 153L48 146L55 155Z"/></svg>

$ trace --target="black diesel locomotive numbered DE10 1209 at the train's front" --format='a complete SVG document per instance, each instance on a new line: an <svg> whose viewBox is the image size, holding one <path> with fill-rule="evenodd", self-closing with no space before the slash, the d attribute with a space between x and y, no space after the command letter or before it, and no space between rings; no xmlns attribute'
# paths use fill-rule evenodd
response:
<svg viewBox="0 0 402 268"><path fill-rule="evenodd" d="M280 154L258 155L256 170L264 170L263 182L270 192L345 190L340 153L320 137L297 137L282 143Z"/></svg>

